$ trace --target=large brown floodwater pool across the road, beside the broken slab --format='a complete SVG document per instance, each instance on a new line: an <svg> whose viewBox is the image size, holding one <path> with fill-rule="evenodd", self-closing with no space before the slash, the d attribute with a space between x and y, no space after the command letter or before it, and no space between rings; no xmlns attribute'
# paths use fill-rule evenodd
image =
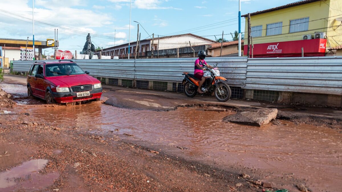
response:
<svg viewBox="0 0 342 192"><path fill-rule="evenodd" d="M47 123L130 134L134 139L187 149L222 166L238 164L272 177L307 180L312 190L340 191L341 133L327 127L281 121L265 127L224 123L231 113L199 108L148 111L91 103L74 107L26 107ZM115 131L118 129L118 131ZM296 184L296 183L294 183Z"/></svg>

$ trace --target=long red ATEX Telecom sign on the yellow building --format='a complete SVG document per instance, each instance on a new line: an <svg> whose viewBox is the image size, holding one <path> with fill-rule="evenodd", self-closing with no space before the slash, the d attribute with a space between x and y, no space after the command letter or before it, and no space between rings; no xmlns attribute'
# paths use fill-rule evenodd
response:
<svg viewBox="0 0 342 192"><path fill-rule="evenodd" d="M254 44L253 57L301 57L302 47L305 57L325 56L326 43L326 39L308 39ZM246 55L247 47L248 45L244 46ZM252 46L249 55L252 55Z"/></svg>

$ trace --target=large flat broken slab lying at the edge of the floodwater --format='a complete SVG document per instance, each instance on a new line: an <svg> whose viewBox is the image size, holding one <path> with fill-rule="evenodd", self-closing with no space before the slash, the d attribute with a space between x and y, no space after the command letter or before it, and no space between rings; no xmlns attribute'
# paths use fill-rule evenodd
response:
<svg viewBox="0 0 342 192"><path fill-rule="evenodd" d="M275 108L256 109L252 111L238 112L223 118L223 122L241 123L254 126L263 126L277 117L278 110Z"/></svg>

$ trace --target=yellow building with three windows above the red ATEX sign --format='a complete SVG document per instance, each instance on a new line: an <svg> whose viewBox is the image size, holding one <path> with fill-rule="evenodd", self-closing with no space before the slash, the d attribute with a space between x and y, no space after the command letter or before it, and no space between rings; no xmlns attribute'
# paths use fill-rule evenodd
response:
<svg viewBox="0 0 342 192"><path fill-rule="evenodd" d="M242 16L246 19L247 39L248 14ZM342 44L342 0L303 0L290 3L251 13L250 22L254 45L315 38L327 39L326 50ZM247 43L246 40L244 45Z"/></svg>

